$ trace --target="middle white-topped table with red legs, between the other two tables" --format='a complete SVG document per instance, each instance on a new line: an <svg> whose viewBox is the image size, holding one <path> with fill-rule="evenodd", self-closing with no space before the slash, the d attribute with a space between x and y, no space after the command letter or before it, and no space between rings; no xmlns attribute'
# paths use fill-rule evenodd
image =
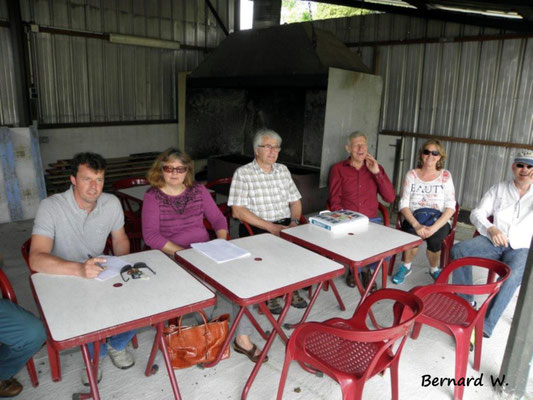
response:
<svg viewBox="0 0 533 400"><path fill-rule="evenodd" d="M287 343L282 323L290 307L292 292L306 286L318 285L302 316L300 322L303 322L320 294L324 282L342 275L344 266L268 233L235 239L231 242L248 250L250 255L217 264L202 253L188 249L177 252L175 259L240 307L224 342L224 349L229 346L244 314L266 340L259 361L244 386L241 397L245 399L276 335ZM284 297L285 305L279 317L275 319L265 302L278 296ZM273 329L269 334L265 333L247 308L255 304L272 325ZM224 351L221 351L220 356L223 353ZM220 356L206 366L216 365L220 361Z"/></svg>

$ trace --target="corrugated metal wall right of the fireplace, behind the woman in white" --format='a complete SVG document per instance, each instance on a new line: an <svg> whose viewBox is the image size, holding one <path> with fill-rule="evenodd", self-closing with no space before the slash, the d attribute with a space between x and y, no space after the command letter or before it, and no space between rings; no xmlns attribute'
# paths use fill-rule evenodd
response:
<svg viewBox="0 0 533 400"><path fill-rule="evenodd" d="M502 32L386 14L313 23L347 43L442 39L353 48L384 79L380 129L533 144L533 39L450 43L446 38ZM405 140L403 173L420 144ZM466 209L511 176L517 151L450 142L446 148L446 167Z"/></svg>

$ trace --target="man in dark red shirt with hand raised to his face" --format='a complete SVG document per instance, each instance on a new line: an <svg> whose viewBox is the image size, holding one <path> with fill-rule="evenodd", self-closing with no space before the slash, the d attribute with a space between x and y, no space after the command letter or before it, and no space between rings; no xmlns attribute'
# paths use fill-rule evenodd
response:
<svg viewBox="0 0 533 400"><path fill-rule="evenodd" d="M392 203L396 198L394 187L383 167L368 153L365 134L351 133L346 140L346 151L349 157L333 165L329 173L330 209L357 211L376 222L379 220L378 193L384 201ZM363 286L368 285L370 277L370 270L363 271ZM355 286L350 271L346 284Z"/></svg>

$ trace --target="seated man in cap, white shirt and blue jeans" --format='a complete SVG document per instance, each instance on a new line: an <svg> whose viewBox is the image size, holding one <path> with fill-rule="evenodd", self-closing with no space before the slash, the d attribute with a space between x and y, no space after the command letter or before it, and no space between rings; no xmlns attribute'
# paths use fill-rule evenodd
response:
<svg viewBox="0 0 533 400"><path fill-rule="evenodd" d="M522 282L522 275L533 237L533 151L523 150L515 157L513 179L492 186L470 213L479 236L453 246L452 259L485 257L499 260L511 268L511 275L490 303L485 315L483 336L490 337L507 304ZM489 217L493 218L493 222ZM472 284L472 268L453 273L453 283ZM473 301L472 295L466 296Z"/></svg>

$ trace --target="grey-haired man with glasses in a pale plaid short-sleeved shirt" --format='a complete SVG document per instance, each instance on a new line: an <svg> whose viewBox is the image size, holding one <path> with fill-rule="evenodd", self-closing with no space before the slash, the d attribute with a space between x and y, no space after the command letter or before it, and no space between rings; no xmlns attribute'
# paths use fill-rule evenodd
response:
<svg viewBox="0 0 533 400"><path fill-rule="evenodd" d="M233 174L228 206L232 206L233 217L247 222L254 234L270 232L279 236L281 230L298 225L302 196L289 169L276 163L281 137L272 130L261 129L254 136L253 146L255 159ZM242 224L239 236L248 236ZM293 293L291 304L297 308L307 307L297 291ZM273 314L281 313L280 298L269 300L268 307Z"/></svg>

